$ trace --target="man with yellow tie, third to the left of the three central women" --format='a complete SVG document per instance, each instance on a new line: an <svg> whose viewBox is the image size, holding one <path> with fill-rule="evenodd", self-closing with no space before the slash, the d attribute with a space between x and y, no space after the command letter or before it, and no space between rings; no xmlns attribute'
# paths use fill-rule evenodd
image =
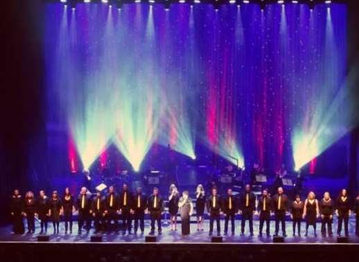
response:
<svg viewBox="0 0 359 262"><path fill-rule="evenodd" d="M120 207L122 214L122 234L126 234L126 230L128 230L128 234L132 234L132 214L133 214L133 196L128 191L128 185L123 184L123 191L120 194Z"/></svg>

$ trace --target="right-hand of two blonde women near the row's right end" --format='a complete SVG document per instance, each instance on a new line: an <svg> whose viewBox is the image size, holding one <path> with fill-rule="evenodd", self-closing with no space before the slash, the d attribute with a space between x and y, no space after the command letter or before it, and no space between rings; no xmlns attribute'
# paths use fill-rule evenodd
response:
<svg viewBox="0 0 359 262"><path fill-rule="evenodd" d="M320 200L319 212L322 218L322 236L326 236L326 225L328 225L328 236L333 236L331 225L333 223L334 202L329 192L325 192L323 199Z"/></svg>

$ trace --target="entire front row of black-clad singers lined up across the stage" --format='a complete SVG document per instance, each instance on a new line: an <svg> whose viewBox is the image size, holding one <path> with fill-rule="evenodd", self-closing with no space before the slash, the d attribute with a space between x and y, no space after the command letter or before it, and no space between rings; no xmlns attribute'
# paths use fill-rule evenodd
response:
<svg viewBox="0 0 359 262"><path fill-rule="evenodd" d="M301 236L301 222L306 222L305 236L308 229L313 227L313 234L317 236L317 221L321 222L322 236L333 236L333 218L338 217L337 235L349 235L349 216L351 212L356 215L356 236L359 236L359 194L351 201L346 189L340 191L336 199L332 199L329 192L325 192L323 198L318 200L313 191L308 193L305 200L296 195L290 202L284 194L283 188L278 187L277 194L270 196L268 189L263 189L261 196L256 198L250 185L245 185L242 194L234 195L232 189L227 189L226 196L218 194L216 187L211 189L211 194L206 198L204 188L198 185L195 191L195 211L197 216L197 230L203 231L204 209L207 207L209 214L209 235L213 234L213 223L216 222L217 235L220 236L220 218L225 218L224 234L228 234L229 221L231 234L235 233L236 214L241 214L240 235L245 234L245 222L249 223L249 234L254 235L253 216L259 215L259 237L262 236L265 224L265 233L270 236L270 218L274 214L275 234L279 234L279 227L283 236L286 236L286 215L290 213L292 220L292 234ZM28 234L35 232L35 218L40 221L40 234L47 233L48 222L53 223L53 233L59 234L61 218L64 221L65 234L72 233L73 214L78 214L78 234L82 229L89 232L91 221L94 221L95 232L119 232L119 218L122 219L123 234L132 234L132 220L134 221L134 233L138 230L144 233L145 214L150 216L150 234L155 234L157 223L158 234L161 234L161 217L164 214L164 198L155 187L152 194L147 197L141 187L137 187L132 194L128 185L124 184L121 194L116 194L114 187L109 187L105 196L100 191L94 198L91 197L86 187L80 189L77 197L71 195L69 187L64 191L62 198L58 191L53 191L51 197L47 197L43 190L35 199L32 191L28 191L24 197L15 189L10 200L12 215L12 233L24 234L23 218L26 218ZM170 214L171 230L177 230L177 213L180 211L182 223L182 235L190 234L190 217L193 213L193 203L189 198L189 192L179 193L175 185L170 185L168 194L168 212ZM113 222L113 224L112 224Z"/></svg>

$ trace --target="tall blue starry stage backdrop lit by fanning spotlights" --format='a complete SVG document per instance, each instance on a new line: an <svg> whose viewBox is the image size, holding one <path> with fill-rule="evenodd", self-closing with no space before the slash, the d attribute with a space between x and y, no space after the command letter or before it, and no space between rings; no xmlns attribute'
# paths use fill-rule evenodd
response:
<svg viewBox="0 0 359 262"><path fill-rule="evenodd" d="M49 3L46 165L315 169L355 124L346 17L335 3Z"/></svg>

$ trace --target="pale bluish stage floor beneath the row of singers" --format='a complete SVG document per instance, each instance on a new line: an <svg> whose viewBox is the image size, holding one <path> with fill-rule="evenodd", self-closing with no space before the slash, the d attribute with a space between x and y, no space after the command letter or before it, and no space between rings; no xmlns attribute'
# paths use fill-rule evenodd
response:
<svg viewBox="0 0 359 262"><path fill-rule="evenodd" d="M103 242L109 243L144 243L145 236L148 235L150 231L150 221L146 221L145 233L144 234L125 234L122 235L122 232L116 234L112 232L111 234L102 234ZM170 226L166 225L166 221L163 221L163 228L161 236L157 236L157 242L159 243L211 243L211 237L209 236L209 221L204 221L204 231L198 232L197 225L191 223L191 234L187 237L181 235L181 225L177 224L177 231L171 231ZM263 234L262 237L258 236L259 232L259 221L254 221L254 236L249 236L249 227L246 224L245 236L240 236L240 220L236 221L236 232L234 236L223 235L224 221L221 221L221 234L223 236L224 243L272 243L272 234L274 234L274 221L271 221L270 225L270 237L267 237ZM292 222L286 222L286 231L287 237L285 238L286 243L337 243L336 238L336 220L333 223L333 237L322 237L320 233L321 224L317 223L317 237L313 235L313 227L309 227L308 236L304 236L305 233L305 223L301 223L301 237L292 236ZM265 227L264 227L265 229ZM359 238L354 234L355 230L355 219L350 218L349 220L349 243L358 243ZM229 226L229 232L231 227ZM38 233L40 232L40 225L36 223L35 234L23 234L23 235L12 235L11 226L0 227L0 241L20 241L20 242L33 242L37 241ZM77 223L74 222L73 233L64 234L64 223L60 223L60 234L53 234L52 223L49 223L48 234L50 236L51 242L64 242L64 243L77 243L77 242L89 242L91 236L94 236L94 229L91 229L89 234L86 234L85 230L82 230L82 234L77 234L78 227ZM281 230L279 231L281 234ZM344 234L344 232L343 232ZM157 235L157 231L156 231ZM213 236L216 235L216 226L214 227Z"/></svg>

